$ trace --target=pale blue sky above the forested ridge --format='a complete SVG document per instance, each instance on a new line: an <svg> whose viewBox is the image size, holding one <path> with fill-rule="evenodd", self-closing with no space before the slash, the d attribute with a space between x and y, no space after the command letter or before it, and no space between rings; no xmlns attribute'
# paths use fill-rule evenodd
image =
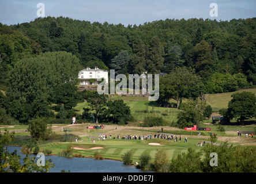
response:
<svg viewBox="0 0 256 184"><path fill-rule="evenodd" d="M45 17L62 16L125 26L167 18L229 21L256 17L255 0L0 0L0 22L11 25L35 20L38 3L44 4ZM211 3L217 4L217 17L210 16Z"/></svg>

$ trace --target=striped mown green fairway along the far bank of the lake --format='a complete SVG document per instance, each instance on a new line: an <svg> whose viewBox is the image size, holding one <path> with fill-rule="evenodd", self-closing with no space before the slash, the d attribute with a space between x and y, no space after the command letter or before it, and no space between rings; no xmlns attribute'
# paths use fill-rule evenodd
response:
<svg viewBox="0 0 256 184"><path fill-rule="evenodd" d="M203 140L203 139L202 139ZM160 143L163 145L149 145L148 143ZM93 144L87 137L83 139L82 143L72 143L73 146L80 148L90 148L90 147L104 147L99 150L74 150L74 154L81 154L83 156L89 157L93 156L94 152L99 152L99 154L103 155L104 158L107 159L115 159L122 160L123 154L126 151L131 151L131 158L134 162L138 162L138 158L142 153L149 154L152 158L155 157L155 154L158 149L164 148L170 159L174 158L174 156L180 154L181 152L186 152L187 148L193 147L195 150L200 150L202 147L197 147L198 139L189 139L187 143L185 143L184 139L182 141L174 142L171 140L164 139L151 139L151 140L104 140L104 141L96 141ZM47 143L40 145L40 150L50 149L53 154L58 154L62 150L64 150L69 143ZM83 146L84 145L84 146Z"/></svg>

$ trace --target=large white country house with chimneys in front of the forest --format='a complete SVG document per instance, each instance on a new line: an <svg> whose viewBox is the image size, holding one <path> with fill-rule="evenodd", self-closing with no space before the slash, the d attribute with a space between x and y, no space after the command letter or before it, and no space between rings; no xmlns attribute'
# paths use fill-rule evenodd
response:
<svg viewBox="0 0 256 184"><path fill-rule="evenodd" d="M97 79L104 78L108 83L108 71L101 70L97 67L91 69L86 67L84 70L80 70L78 73L78 79L80 79L80 85L98 85L100 81Z"/></svg>

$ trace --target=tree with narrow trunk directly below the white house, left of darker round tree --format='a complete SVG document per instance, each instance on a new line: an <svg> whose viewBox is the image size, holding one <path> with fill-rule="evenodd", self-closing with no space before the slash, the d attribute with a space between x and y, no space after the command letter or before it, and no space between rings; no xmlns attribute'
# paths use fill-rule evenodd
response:
<svg viewBox="0 0 256 184"><path fill-rule="evenodd" d="M107 105L106 95L98 94L97 91L88 91L86 97L89 109L95 114L96 124L99 123L99 115L104 112Z"/></svg>

